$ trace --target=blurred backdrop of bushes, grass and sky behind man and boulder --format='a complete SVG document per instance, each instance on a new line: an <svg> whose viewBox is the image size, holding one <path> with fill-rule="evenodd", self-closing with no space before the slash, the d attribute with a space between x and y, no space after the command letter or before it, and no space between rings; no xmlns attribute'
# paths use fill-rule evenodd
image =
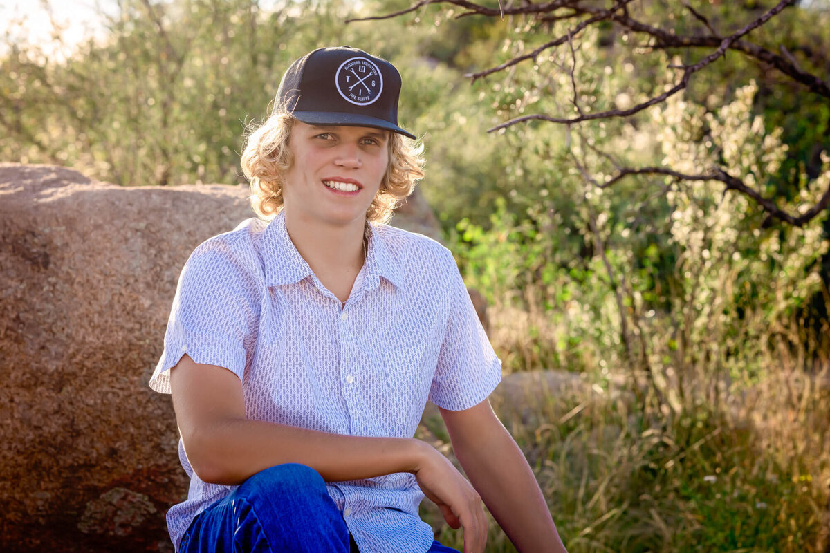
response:
<svg viewBox="0 0 830 553"><path fill-rule="evenodd" d="M632 114L778 2L616 12L718 37L690 46L598 16L616 2L562 3L577 7L424 2L347 22L410 4L6 0L0 162L244 187L243 133L291 61L341 44L383 56L505 375L580 383L505 416L569 551L830 551L830 2L789 2L743 37L755 50ZM529 114L585 120L488 132ZM496 525L489 544L514 551Z"/></svg>

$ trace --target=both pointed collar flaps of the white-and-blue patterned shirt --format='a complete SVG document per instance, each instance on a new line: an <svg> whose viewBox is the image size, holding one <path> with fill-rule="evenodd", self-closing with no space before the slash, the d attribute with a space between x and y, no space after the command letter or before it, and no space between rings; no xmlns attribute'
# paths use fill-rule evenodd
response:
<svg viewBox="0 0 830 553"><path fill-rule="evenodd" d="M295 284L313 275L309 264L295 248L286 230L286 213L280 211L268 223L262 236L266 286ZM380 277L387 279L396 288L403 285L401 269L383 244L383 232L369 224L369 247L364 264L364 285L366 289L376 288Z"/></svg>

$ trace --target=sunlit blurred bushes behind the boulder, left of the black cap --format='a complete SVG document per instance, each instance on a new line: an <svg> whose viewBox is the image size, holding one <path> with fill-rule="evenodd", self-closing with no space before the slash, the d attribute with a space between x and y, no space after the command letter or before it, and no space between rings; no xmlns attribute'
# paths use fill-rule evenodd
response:
<svg viewBox="0 0 830 553"><path fill-rule="evenodd" d="M244 124L266 114L286 66L318 46L368 41L341 24L344 10L338 0L302 10L125 0L105 39L66 62L12 44L0 65L0 157L128 185L241 182Z"/></svg>

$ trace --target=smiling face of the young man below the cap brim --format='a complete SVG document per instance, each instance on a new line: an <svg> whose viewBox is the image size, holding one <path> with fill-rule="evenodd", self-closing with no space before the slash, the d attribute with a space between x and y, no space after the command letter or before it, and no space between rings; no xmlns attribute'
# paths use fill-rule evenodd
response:
<svg viewBox="0 0 830 553"><path fill-rule="evenodd" d="M286 214L307 221L363 225L389 163L388 131L295 121L288 143Z"/></svg>

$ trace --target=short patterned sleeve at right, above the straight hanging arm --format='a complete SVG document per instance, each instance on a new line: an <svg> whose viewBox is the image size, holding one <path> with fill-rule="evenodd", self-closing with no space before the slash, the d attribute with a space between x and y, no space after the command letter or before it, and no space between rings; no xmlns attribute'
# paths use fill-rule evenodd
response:
<svg viewBox="0 0 830 553"><path fill-rule="evenodd" d="M473 307L452 254L442 248L447 282L447 329L438 353L429 400L447 410L481 403L501 381L501 361Z"/></svg>

